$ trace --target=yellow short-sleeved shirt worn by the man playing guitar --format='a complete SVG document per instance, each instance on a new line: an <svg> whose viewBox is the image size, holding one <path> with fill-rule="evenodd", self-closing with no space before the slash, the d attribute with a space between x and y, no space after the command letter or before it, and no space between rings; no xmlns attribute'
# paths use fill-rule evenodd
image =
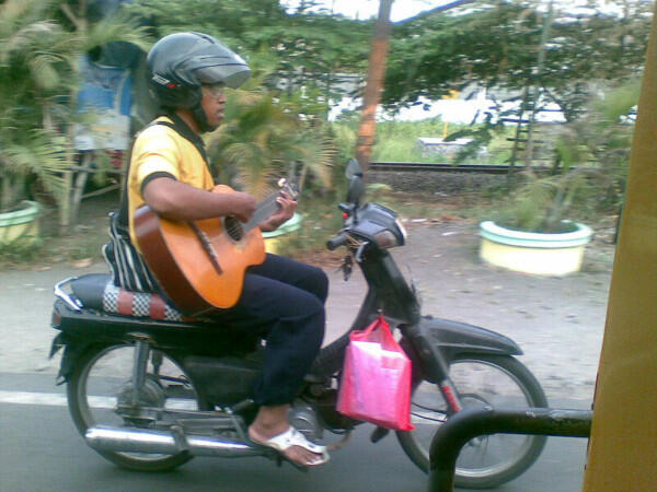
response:
<svg viewBox="0 0 657 492"><path fill-rule="evenodd" d="M164 116L157 121L172 122ZM194 143L164 125L151 125L143 129L132 145L128 173L130 241L138 250L139 244L134 224L135 211L145 204L141 195L145 179L155 173L171 175L178 181L196 188L211 189L215 185L208 166Z"/></svg>

